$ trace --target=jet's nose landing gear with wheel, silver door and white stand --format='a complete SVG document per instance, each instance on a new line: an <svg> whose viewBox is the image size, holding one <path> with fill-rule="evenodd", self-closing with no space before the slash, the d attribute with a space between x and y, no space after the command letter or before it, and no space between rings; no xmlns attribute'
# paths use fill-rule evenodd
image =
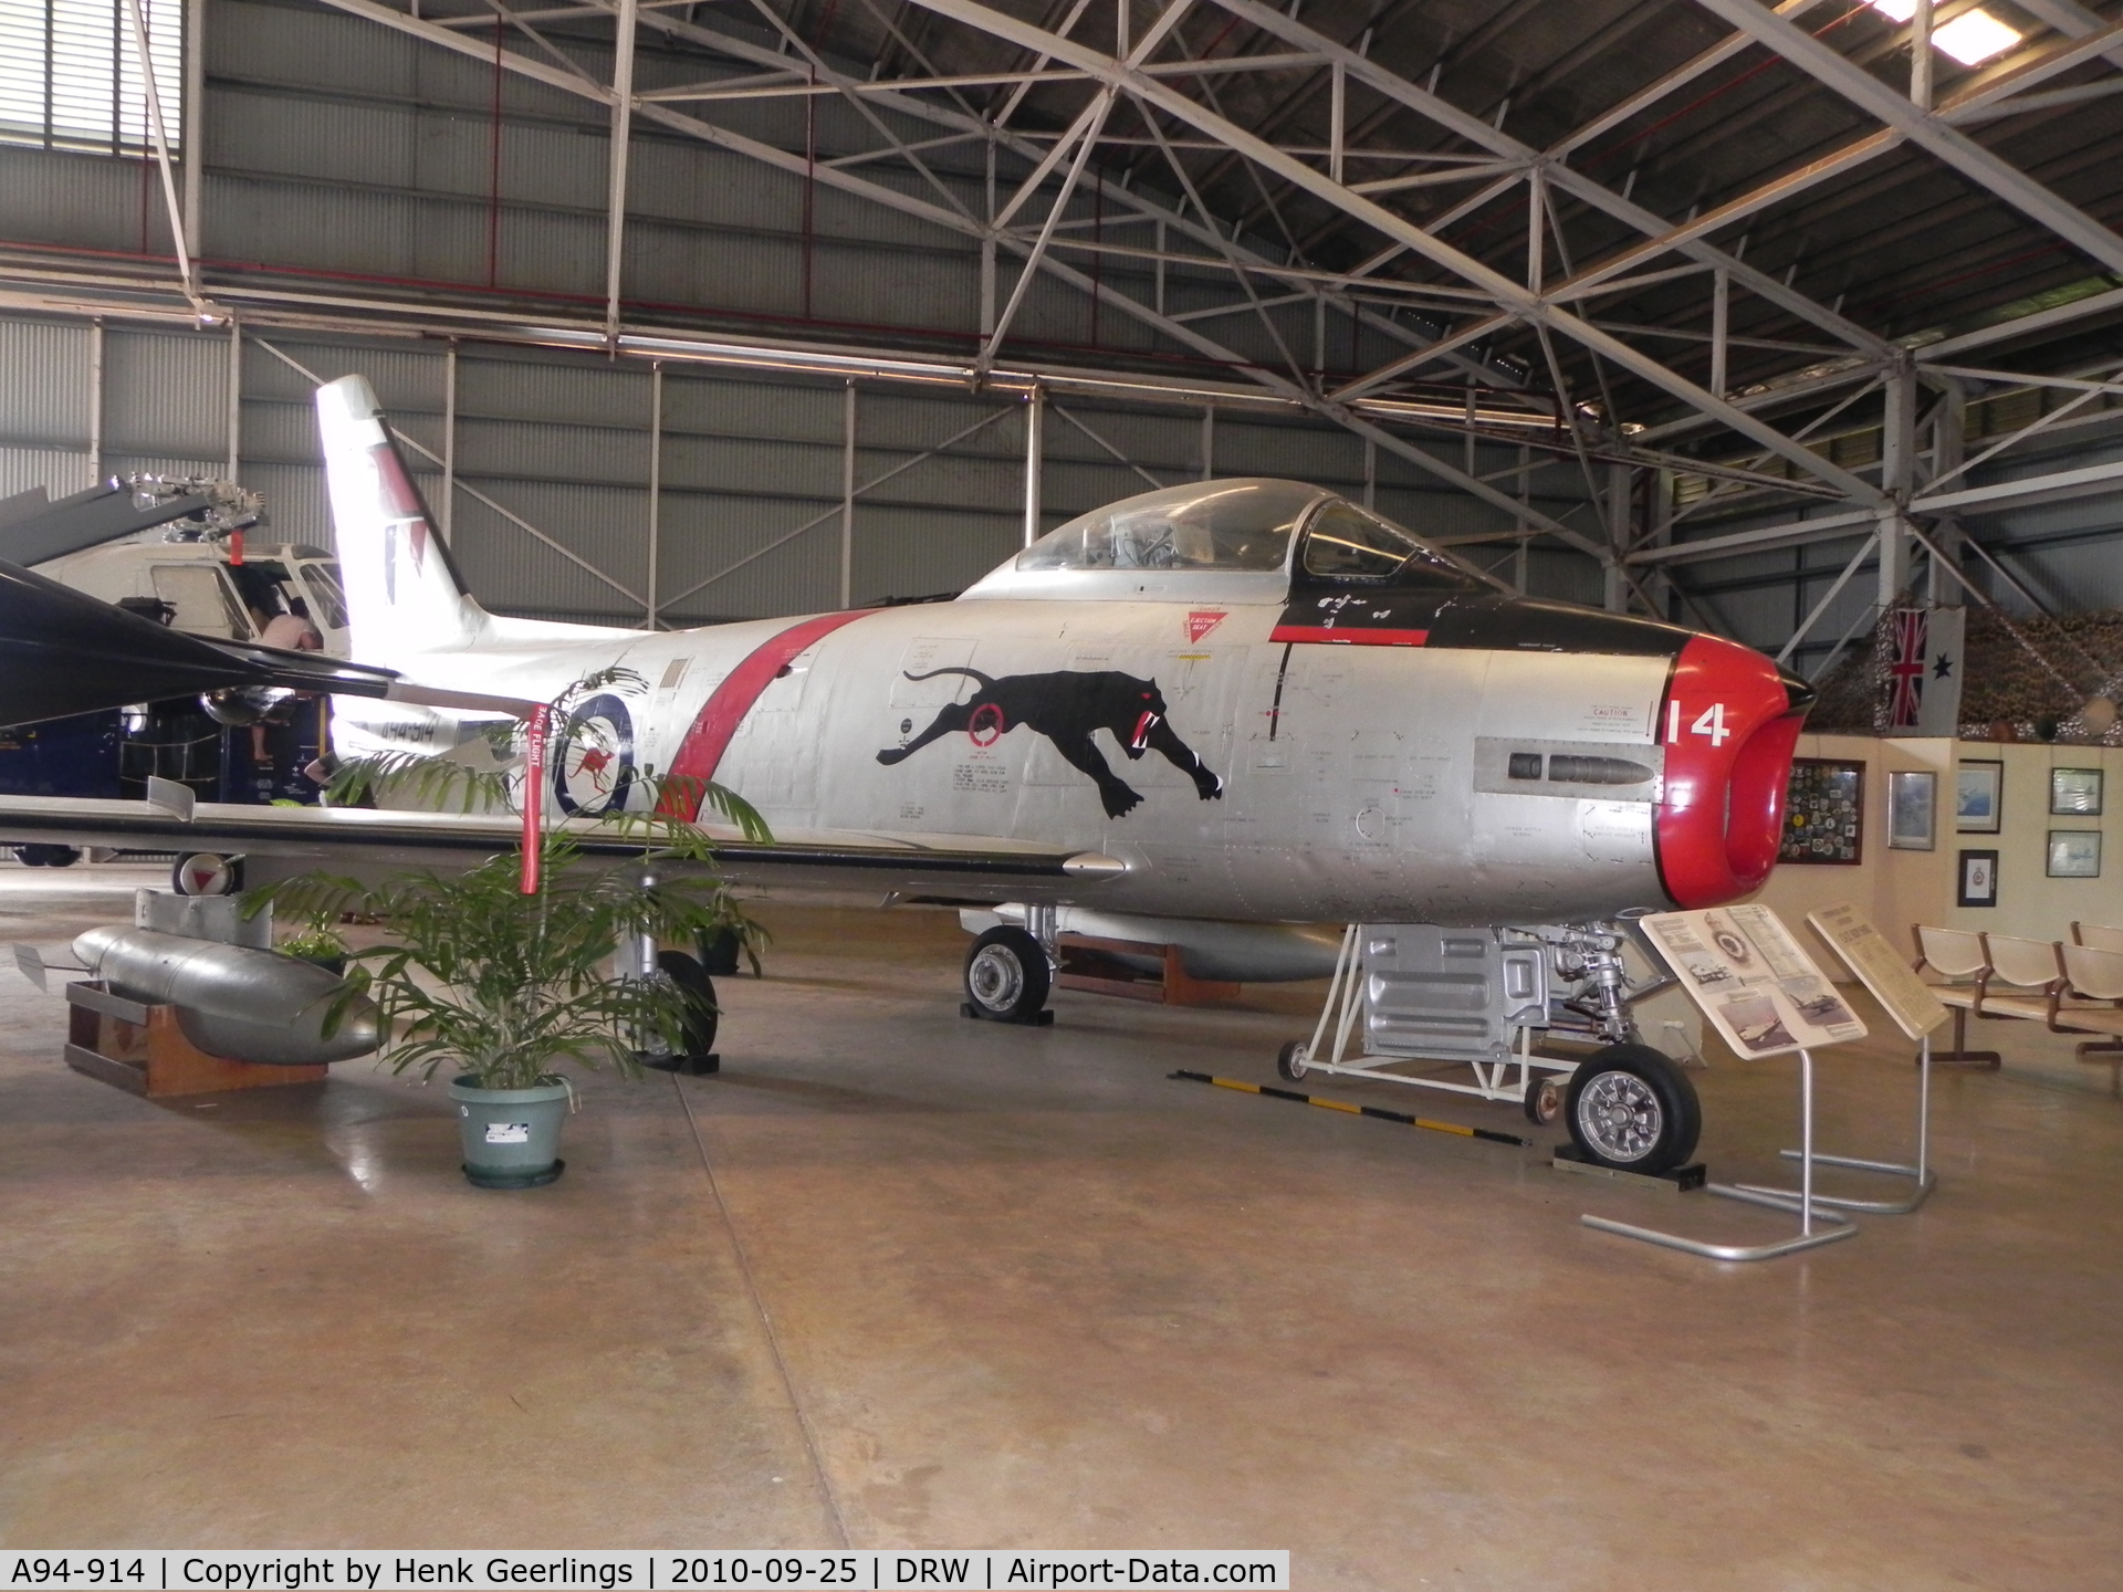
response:
<svg viewBox="0 0 2123 1592"><path fill-rule="evenodd" d="M1694 1155L1703 1108L1688 1074L1637 1032L1635 1002L1673 979L1647 957L1633 970L1628 947L1624 923L1352 923L1312 1038L1284 1044L1276 1070L1516 1102L1533 1123L1560 1119L1594 1165L1671 1172ZM1554 1040L1599 1049L1535 1055ZM1439 1061L1465 1063L1471 1080L1410 1070Z"/></svg>

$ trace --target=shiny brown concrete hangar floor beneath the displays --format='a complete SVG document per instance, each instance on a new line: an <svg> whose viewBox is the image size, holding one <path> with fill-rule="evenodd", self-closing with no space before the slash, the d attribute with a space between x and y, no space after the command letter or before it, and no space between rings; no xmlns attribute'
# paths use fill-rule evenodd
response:
<svg viewBox="0 0 2123 1592"><path fill-rule="evenodd" d="M153 875L0 868L62 945ZM2112 1588L2123 1102L2027 1025L1938 1085L1943 1189L1773 1233L1546 1157L1168 1083L1272 1080L1306 991L957 1017L947 913L764 909L724 1074L590 1083L480 1193L448 1102L149 1104L0 974L0 1545L1287 1547L1321 1588ZM1902 1150L1902 1046L1824 1140ZM1718 1176L1794 1068L1696 1074ZM1382 1100L1518 1131L1514 1110ZM1556 1134L1541 1134L1543 1142Z"/></svg>

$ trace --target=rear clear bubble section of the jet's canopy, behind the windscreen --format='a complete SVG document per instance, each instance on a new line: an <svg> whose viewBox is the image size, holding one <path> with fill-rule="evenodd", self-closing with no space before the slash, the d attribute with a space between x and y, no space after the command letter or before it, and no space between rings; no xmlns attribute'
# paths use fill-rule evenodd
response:
<svg viewBox="0 0 2123 1592"><path fill-rule="evenodd" d="M1297 482L1191 482L1142 492L1049 531L1019 569L1282 569L1318 499Z"/></svg>

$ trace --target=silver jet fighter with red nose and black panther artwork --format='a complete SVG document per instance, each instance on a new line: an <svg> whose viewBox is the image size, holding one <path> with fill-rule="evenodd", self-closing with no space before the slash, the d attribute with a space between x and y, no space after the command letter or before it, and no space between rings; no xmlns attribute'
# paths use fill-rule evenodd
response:
<svg viewBox="0 0 2123 1592"><path fill-rule="evenodd" d="M1777 855L1802 681L1718 637L1514 596L1312 486L1146 492L951 603L607 630L486 613L369 384L316 403L355 662L524 700L626 671L556 726L558 807L639 807L645 771L715 779L781 843L732 845L737 877L987 900L1049 934L1051 906L1497 925L1707 906ZM342 696L333 734L342 754L444 754L493 717ZM83 811L125 804L64 807L0 817L15 838L138 845ZM253 879L276 853L495 841L442 815L191 824Z"/></svg>

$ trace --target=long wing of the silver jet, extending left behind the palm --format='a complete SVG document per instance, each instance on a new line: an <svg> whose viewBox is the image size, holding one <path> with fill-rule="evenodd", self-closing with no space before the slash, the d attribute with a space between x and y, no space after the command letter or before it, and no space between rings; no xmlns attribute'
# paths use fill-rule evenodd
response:
<svg viewBox="0 0 2123 1592"><path fill-rule="evenodd" d="M569 819L590 858L641 855L643 841L609 824ZM735 883L883 887L907 896L1042 900L1115 879L1127 864L1095 851L1028 845L998 836L902 836L866 830L790 830L773 843L703 826L720 870ZM214 851L272 860L270 872L310 868L359 872L372 866L463 868L522 838L514 813L401 813L367 807L242 807L197 802L191 817L149 802L87 796L0 796L0 845L117 847L127 851Z"/></svg>

